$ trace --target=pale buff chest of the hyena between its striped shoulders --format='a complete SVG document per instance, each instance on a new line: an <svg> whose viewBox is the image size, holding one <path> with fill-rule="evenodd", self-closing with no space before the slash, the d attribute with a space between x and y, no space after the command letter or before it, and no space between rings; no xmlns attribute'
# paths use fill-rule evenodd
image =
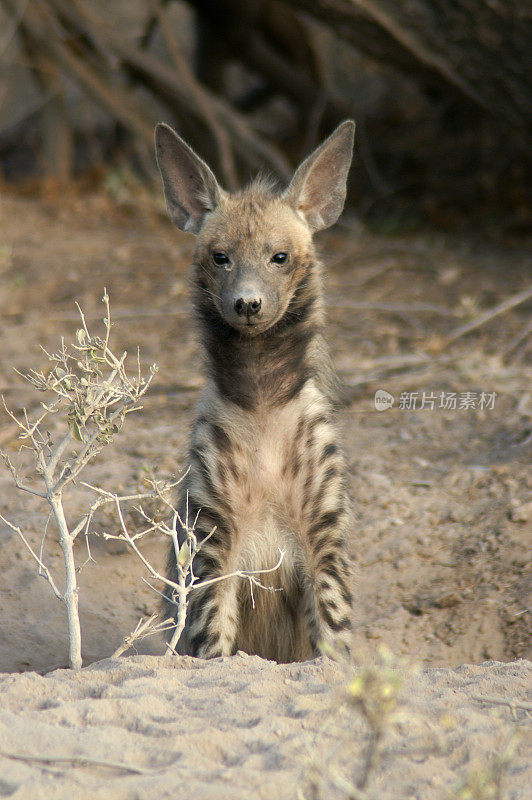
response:
<svg viewBox="0 0 532 800"><path fill-rule="evenodd" d="M293 561L328 490L337 490L341 469L328 403L312 385L290 403L268 411L227 409L219 418L223 446L212 462L211 480L222 498L241 566L264 568L287 551ZM218 436L219 444L222 437ZM337 481L336 481L337 484Z"/></svg>

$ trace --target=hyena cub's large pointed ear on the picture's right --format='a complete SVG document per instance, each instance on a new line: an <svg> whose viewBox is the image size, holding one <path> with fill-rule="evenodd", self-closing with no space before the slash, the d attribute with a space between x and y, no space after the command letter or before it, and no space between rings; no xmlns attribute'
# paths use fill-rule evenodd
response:
<svg viewBox="0 0 532 800"><path fill-rule="evenodd" d="M334 225L345 203L355 123L346 120L297 169L284 197L314 231Z"/></svg>

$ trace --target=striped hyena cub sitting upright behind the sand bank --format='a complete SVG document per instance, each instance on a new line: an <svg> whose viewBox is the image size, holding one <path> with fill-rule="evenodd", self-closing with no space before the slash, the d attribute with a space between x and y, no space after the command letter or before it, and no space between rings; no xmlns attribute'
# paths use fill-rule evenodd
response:
<svg viewBox="0 0 532 800"><path fill-rule="evenodd" d="M171 128L156 129L168 212L197 236L193 302L208 379L181 507L188 495L199 539L216 530L195 573L265 569L285 551L262 576L276 591L252 598L247 581L230 578L192 592L182 653L295 661L322 641L349 645L350 519L312 235L342 211L354 130L340 125L286 190L256 180L228 194Z"/></svg>

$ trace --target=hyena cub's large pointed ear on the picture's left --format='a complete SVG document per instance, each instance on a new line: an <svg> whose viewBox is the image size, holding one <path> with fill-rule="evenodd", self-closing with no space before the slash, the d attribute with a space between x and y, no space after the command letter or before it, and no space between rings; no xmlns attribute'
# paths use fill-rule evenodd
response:
<svg viewBox="0 0 532 800"><path fill-rule="evenodd" d="M170 219L182 231L198 233L205 214L222 199L223 189L205 161L163 122L155 128L155 153Z"/></svg>

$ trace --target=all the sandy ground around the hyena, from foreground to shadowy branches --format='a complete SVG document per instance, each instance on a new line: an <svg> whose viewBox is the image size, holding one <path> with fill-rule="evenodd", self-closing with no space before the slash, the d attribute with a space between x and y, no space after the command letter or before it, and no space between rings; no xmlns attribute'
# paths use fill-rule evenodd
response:
<svg viewBox="0 0 532 800"><path fill-rule="evenodd" d="M458 326L530 285L530 251L522 241L384 236L347 226L320 244L334 360L345 382L357 387L339 419L355 507L355 657L371 661L384 644L421 664L425 671L405 682L408 708L425 719L427 731L440 725L444 711L452 717L441 723L450 726L447 755L401 759L421 728L395 732L374 790L379 797L443 798L477 762L500 753L511 726L526 717L523 709L512 715L505 706L483 706L473 694L524 697L529 664L515 660L532 655L532 371L523 336L530 305L441 345ZM202 381L187 301L190 251L190 239L148 208L118 207L105 195L0 200L0 389L10 407L38 408L41 398L13 367L44 367L39 344L55 349L62 335L73 335L75 300L97 326L104 286L116 350L135 353L139 345L144 366L159 363L142 413L87 470L87 480L105 488L130 491L142 485L146 470L166 476L186 466ZM376 389L395 396L391 410L375 410ZM419 398L423 391L495 392L496 400L484 410L399 407L401 392ZM27 456L6 417L0 442L24 470ZM86 503L74 492L69 517ZM0 513L39 546L46 510L17 492L6 471ZM96 529L113 524L102 515ZM145 544L156 566L164 564L165 546L155 539ZM80 574L85 664L109 658L139 617L157 607L142 567L120 544L93 538L92 555L97 563ZM45 556L61 580L52 528ZM83 541L77 559L85 559ZM3 524L0 576L0 670L63 666L63 609ZM0 749L119 760L148 774L2 761L0 796L175 797L185 782L184 797L295 797L309 753L317 749L330 761L328 748L339 734L324 734L322 726L338 704L340 667L237 657L168 664L153 658L162 652L158 638L140 643L138 652L148 655L105 661L78 675L4 677ZM486 660L512 663L451 669ZM348 759L356 766L362 722L349 714L347 721L340 714L338 725L357 742ZM512 760L504 797L525 797L523 759ZM402 793L394 794L396 786Z"/></svg>

